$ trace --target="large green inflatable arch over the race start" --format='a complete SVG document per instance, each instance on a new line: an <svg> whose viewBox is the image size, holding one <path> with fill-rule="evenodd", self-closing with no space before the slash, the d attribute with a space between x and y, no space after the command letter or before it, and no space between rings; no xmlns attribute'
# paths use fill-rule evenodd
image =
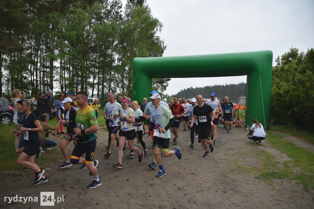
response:
<svg viewBox="0 0 314 209"><path fill-rule="evenodd" d="M148 98L152 91L152 78L247 75L246 124L251 126L252 119L256 118L268 129L272 64L272 51L135 58L133 60L133 100L141 101L144 97ZM203 97L208 97L210 93L208 92L208 95L203 95Z"/></svg>

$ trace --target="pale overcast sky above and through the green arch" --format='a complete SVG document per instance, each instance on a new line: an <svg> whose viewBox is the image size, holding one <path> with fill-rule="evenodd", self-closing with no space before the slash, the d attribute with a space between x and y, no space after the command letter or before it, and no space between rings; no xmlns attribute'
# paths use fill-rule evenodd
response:
<svg viewBox="0 0 314 209"><path fill-rule="evenodd" d="M123 1L124 2L124 1ZM314 0L212 1L147 0L154 18L164 25L159 34L167 49L163 56L273 51L291 46L306 52L314 47ZM165 94L183 88L246 82L246 76L172 78Z"/></svg>

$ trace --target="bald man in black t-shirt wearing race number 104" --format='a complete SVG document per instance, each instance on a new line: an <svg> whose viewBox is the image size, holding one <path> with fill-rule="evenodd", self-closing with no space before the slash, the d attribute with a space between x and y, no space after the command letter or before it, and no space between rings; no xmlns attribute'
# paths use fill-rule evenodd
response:
<svg viewBox="0 0 314 209"><path fill-rule="evenodd" d="M214 126L215 112L213 108L209 105L203 103L203 96L197 95L196 97L198 105L193 109L193 116L191 119L191 125L195 121L197 117L198 120L198 138L201 139L201 144L205 150L205 154L203 155L206 158L209 155L207 144L209 144L210 152L214 152L214 144L210 138L211 128ZM212 116L210 116L212 115Z"/></svg>

